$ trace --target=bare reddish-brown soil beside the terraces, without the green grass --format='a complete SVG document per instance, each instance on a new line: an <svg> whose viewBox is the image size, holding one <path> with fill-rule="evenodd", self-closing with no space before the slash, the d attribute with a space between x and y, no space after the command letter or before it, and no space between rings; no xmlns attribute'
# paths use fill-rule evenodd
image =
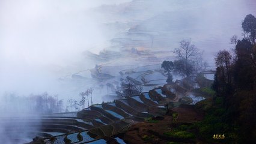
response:
<svg viewBox="0 0 256 144"><path fill-rule="evenodd" d="M162 120L141 122L129 128L124 134L124 141L127 143L168 143L169 140L163 138L163 133L172 130L172 112L178 113L177 123L192 123L201 121L203 114L197 112L192 105L181 105L170 110L168 115ZM175 122L176 123L176 122Z"/></svg>

